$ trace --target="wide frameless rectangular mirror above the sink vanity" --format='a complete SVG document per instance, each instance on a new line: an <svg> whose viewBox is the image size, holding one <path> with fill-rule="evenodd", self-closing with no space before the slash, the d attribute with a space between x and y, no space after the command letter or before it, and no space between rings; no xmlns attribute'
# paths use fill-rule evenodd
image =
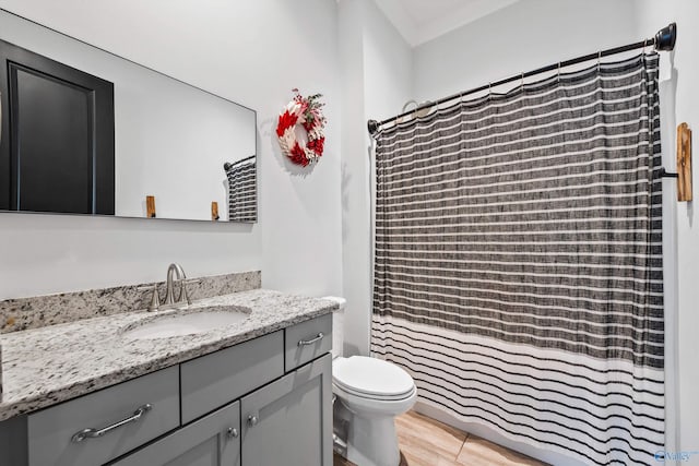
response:
<svg viewBox="0 0 699 466"><path fill-rule="evenodd" d="M257 220L253 110L4 10L0 40L0 210Z"/></svg>

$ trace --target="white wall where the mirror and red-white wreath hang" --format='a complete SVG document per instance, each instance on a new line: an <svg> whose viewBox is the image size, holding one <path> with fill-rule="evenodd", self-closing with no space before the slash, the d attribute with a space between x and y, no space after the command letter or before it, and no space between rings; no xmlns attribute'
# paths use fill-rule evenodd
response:
<svg viewBox="0 0 699 466"><path fill-rule="evenodd" d="M0 0L0 8L258 111L259 218L253 226L0 215L0 298L262 270L263 286L342 291L337 14L327 0L197 2ZM283 159L276 116L292 97L325 95L325 154L311 170Z"/></svg>

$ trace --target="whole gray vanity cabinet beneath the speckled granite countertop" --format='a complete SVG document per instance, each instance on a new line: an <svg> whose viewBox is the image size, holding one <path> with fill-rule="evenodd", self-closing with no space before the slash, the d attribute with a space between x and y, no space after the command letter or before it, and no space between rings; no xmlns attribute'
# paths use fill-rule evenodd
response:
<svg viewBox="0 0 699 466"><path fill-rule="evenodd" d="M0 422L0 466L332 466L332 316Z"/></svg>

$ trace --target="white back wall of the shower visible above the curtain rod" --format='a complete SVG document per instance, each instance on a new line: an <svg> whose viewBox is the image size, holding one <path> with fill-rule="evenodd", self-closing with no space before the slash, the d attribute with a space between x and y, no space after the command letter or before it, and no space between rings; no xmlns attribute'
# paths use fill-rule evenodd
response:
<svg viewBox="0 0 699 466"><path fill-rule="evenodd" d="M637 41L635 0L521 0L417 46L413 92L438 99L557 61ZM497 89L503 91L503 89Z"/></svg>

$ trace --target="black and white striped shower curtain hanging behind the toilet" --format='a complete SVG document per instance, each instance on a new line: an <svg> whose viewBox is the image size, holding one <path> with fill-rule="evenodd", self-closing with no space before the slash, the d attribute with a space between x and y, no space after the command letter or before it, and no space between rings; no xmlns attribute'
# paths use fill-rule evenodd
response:
<svg viewBox="0 0 699 466"><path fill-rule="evenodd" d="M418 401L583 464L664 445L657 55L377 136L371 350Z"/></svg>

